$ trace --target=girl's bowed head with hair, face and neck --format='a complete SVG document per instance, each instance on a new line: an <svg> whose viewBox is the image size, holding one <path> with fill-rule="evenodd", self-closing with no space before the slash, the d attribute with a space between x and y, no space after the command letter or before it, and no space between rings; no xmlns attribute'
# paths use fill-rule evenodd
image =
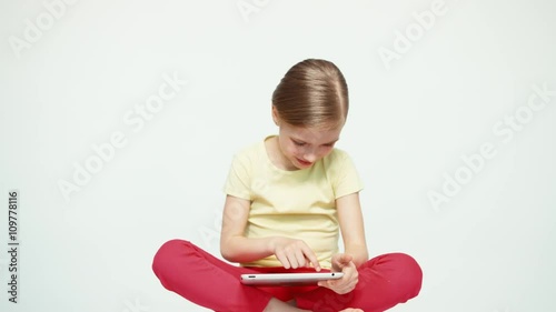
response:
<svg viewBox="0 0 556 312"><path fill-rule="evenodd" d="M268 141L271 161L286 170L310 168L332 151L348 110L346 79L334 63L295 64L272 93L272 119L280 130Z"/></svg>

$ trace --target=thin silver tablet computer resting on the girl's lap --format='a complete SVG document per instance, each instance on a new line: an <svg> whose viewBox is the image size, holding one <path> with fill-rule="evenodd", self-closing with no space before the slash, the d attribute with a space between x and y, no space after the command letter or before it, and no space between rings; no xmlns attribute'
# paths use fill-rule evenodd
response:
<svg viewBox="0 0 556 312"><path fill-rule="evenodd" d="M318 281L337 280L344 276L341 272L328 273L258 273L241 274L241 283L260 286L297 286L316 285Z"/></svg>

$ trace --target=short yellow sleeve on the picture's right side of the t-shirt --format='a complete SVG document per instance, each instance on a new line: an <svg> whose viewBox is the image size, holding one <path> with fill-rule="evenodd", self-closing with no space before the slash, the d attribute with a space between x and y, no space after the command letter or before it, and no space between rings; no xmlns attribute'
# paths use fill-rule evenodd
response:
<svg viewBox="0 0 556 312"><path fill-rule="evenodd" d="M335 198L341 198L359 192L364 185L351 158L344 151L336 150L330 165L332 189Z"/></svg>

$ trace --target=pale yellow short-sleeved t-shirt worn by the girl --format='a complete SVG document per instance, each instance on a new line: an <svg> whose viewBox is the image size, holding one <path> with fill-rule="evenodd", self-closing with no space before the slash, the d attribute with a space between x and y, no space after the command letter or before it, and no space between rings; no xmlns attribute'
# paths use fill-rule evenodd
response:
<svg viewBox="0 0 556 312"><path fill-rule="evenodd" d="M268 158L265 138L235 154L224 191L249 200L246 238L286 236L305 241L322 268L338 252L336 199L363 183L349 155L338 149L310 168L287 171ZM275 255L242 266L281 266Z"/></svg>

